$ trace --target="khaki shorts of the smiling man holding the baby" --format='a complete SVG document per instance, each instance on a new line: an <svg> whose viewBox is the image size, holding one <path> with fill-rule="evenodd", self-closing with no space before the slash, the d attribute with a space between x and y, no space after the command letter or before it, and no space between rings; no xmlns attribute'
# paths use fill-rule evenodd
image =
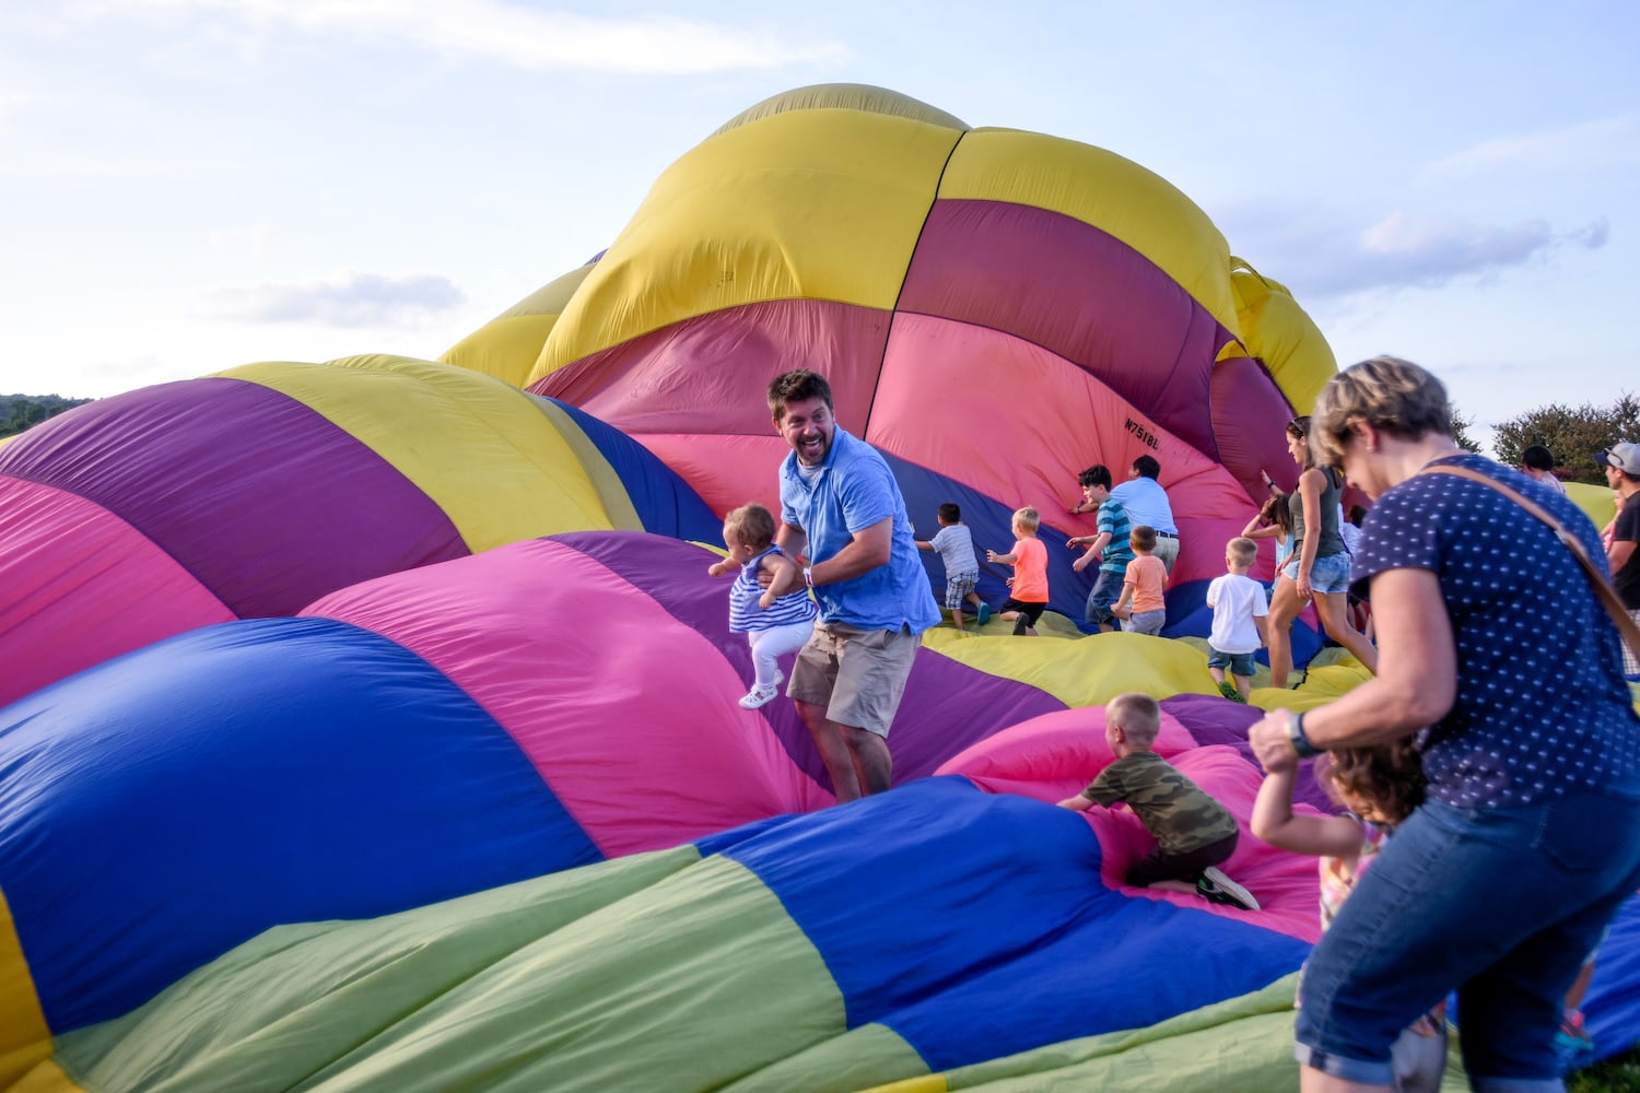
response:
<svg viewBox="0 0 1640 1093"><path fill-rule="evenodd" d="M887 736L905 695L905 677L922 634L904 629L854 629L846 623L817 623L797 651L786 693L825 716L877 736Z"/></svg>

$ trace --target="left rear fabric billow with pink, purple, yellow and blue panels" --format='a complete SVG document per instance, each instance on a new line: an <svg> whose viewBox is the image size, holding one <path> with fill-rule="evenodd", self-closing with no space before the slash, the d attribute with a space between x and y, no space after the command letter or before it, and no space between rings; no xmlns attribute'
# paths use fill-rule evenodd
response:
<svg viewBox="0 0 1640 1093"><path fill-rule="evenodd" d="M556 531L718 534L584 411L403 357L256 364L0 447L0 703L195 626Z"/></svg>

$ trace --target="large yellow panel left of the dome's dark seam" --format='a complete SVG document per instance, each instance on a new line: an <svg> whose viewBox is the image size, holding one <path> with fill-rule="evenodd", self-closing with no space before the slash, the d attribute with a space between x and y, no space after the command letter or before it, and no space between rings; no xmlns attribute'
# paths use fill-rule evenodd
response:
<svg viewBox="0 0 1640 1093"><path fill-rule="evenodd" d="M682 320L764 300L894 306L958 133L781 113L679 159L587 275L530 382Z"/></svg>

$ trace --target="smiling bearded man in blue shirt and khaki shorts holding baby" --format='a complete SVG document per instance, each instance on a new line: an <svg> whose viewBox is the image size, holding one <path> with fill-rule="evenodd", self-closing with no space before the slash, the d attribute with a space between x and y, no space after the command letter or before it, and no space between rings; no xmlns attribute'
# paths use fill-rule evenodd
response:
<svg viewBox="0 0 1640 1093"><path fill-rule="evenodd" d="M825 377L807 369L774 377L769 413L792 446L781 464L784 523L774 541L809 559L804 577L820 605L786 693L836 800L853 801L889 788L889 724L940 608L900 487L871 444L836 428Z"/></svg>

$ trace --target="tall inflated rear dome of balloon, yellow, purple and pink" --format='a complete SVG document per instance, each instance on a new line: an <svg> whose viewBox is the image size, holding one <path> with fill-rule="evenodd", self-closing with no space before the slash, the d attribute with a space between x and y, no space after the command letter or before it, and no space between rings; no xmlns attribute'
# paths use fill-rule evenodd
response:
<svg viewBox="0 0 1640 1093"><path fill-rule="evenodd" d="M781 441L761 392L813 367L843 428L889 457L925 536L956 501L1002 551L1009 515L1041 511L1051 608L1081 621L1094 574L1058 546L1094 531L1066 516L1076 475L1104 462L1120 480L1156 457L1184 544L1174 636L1205 637L1205 582L1263 500L1261 472L1292 483L1292 392L1307 408L1335 370L1286 288L1232 259L1163 179L881 88L802 88L746 111L672 164L577 274L530 390L640 439L720 513L772 506ZM517 354L518 331L503 316L446 359ZM1000 600L1005 577L986 565L981 593Z"/></svg>

